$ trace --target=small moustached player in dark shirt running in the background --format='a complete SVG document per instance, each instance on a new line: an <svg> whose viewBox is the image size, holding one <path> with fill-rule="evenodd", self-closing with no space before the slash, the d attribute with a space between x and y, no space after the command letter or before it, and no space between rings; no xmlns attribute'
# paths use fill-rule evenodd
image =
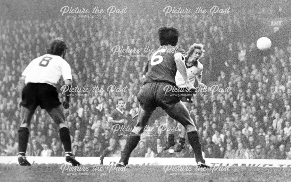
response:
<svg viewBox="0 0 291 182"><path fill-rule="evenodd" d="M113 125L118 124L122 125L126 122L125 120L125 110L124 108L124 100L118 99L117 100L117 107L111 112L111 116L108 117L108 122L112 123ZM107 147L100 156L100 164L103 164L103 159L105 156L107 156L111 151L113 151L116 146L117 142L119 142L121 150L123 150L123 145L120 142L120 139L123 136L121 135L120 131L114 132L111 131L110 133L110 140L109 140L109 147Z"/></svg>

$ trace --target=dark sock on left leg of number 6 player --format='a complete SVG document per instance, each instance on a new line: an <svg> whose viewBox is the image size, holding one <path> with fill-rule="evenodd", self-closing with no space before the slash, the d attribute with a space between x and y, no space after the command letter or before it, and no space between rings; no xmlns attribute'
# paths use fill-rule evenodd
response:
<svg viewBox="0 0 291 182"><path fill-rule="evenodd" d="M141 140L141 136L139 134L130 133L130 135L127 136L126 144L119 162L123 162L125 165L128 164L129 156L139 143L139 140Z"/></svg>

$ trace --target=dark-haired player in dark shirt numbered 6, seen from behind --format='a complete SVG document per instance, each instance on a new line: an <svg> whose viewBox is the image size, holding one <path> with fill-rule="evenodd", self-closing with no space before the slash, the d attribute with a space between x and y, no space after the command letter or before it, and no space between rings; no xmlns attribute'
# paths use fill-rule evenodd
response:
<svg viewBox="0 0 291 182"><path fill-rule="evenodd" d="M187 77L186 65L183 61L185 51L182 48L175 47L178 42L178 36L179 32L175 28L162 27L159 29L161 46L151 56L143 87L138 94L140 108L137 124L127 137L120 161L116 165L117 167L125 167L128 164L129 156L139 143L140 136L156 107L164 109L171 118L180 122L186 128L188 140L194 150L198 167L209 167L203 159L198 132L190 113L175 91L175 88L177 88L175 86L177 69L183 76L186 87L189 90L195 89Z"/></svg>

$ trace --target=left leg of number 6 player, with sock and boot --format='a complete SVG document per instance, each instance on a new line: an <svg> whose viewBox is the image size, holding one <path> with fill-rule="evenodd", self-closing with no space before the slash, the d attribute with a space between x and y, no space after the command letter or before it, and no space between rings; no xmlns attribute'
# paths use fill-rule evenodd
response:
<svg viewBox="0 0 291 182"><path fill-rule="evenodd" d="M132 132L130 132L127 136L123 153L116 167L125 167L128 164L130 154L139 143L139 140L141 140L141 134L143 133L144 127L148 124L148 120L150 119L152 112L153 111L145 111L139 107L137 124Z"/></svg>

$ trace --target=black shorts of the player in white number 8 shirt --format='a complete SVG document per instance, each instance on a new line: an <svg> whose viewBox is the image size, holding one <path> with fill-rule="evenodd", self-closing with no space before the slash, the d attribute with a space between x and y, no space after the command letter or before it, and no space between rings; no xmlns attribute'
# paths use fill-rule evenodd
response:
<svg viewBox="0 0 291 182"><path fill-rule="evenodd" d="M61 104L56 87L47 83L28 83L22 90L21 105L28 109L52 109Z"/></svg>

